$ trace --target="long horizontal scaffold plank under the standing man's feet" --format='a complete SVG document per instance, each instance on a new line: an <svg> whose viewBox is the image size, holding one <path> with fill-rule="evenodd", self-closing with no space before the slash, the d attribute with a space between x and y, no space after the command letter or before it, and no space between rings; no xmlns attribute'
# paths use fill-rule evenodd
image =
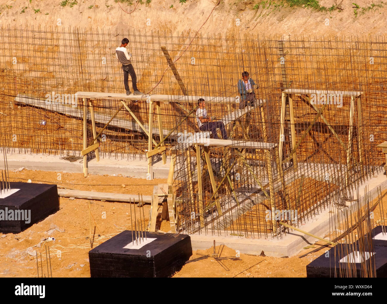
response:
<svg viewBox="0 0 387 304"><path fill-rule="evenodd" d="M208 103L230 104L235 103L235 97L222 96L185 96L185 95L126 95L121 93L101 93L101 92L77 92L78 98L88 99L109 99L109 100L142 100L146 101L149 97L152 101L166 101L166 102L188 102L197 104L199 98L204 98Z"/></svg>

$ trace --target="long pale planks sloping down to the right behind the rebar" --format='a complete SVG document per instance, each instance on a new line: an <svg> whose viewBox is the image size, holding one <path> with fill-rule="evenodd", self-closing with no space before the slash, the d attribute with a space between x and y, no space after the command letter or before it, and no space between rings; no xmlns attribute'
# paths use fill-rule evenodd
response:
<svg viewBox="0 0 387 304"><path fill-rule="evenodd" d="M48 110L51 112L58 112L58 113L65 114L68 116L77 117L79 119L83 118L83 112L79 107L72 107L71 105L61 105L61 104L58 104L55 102L49 104L49 103L46 103L45 100L36 99L33 97L29 97L26 95L20 95L20 94L18 94L15 97L15 101L20 102L22 104L26 104L26 105L32 105L34 107L38 107L38 108ZM95 121L99 122L100 124L104 124L104 125L107 122L109 122L112 115L113 114L102 115L98 112L94 112ZM143 125L144 125L145 129L148 129L148 124L143 124ZM114 118L110 122L109 126L120 127L120 128L127 129L127 130L136 131L139 133L144 133L144 130L141 129L141 127L139 126L139 124L137 124L137 122L130 121L127 119ZM169 132L170 132L169 130L163 129L164 136L168 135ZM152 133L154 135L160 135L159 128L154 127ZM175 133L176 132L173 132L171 135L175 136L176 135Z"/></svg>

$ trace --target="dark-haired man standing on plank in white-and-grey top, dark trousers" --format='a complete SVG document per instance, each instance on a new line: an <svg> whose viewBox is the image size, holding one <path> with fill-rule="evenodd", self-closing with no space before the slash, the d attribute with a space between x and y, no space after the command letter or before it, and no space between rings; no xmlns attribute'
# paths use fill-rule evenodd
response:
<svg viewBox="0 0 387 304"><path fill-rule="evenodd" d="M129 40L127 38L122 39L121 45L116 48L116 57L122 63L122 70L123 70L123 84L125 85L126 95L130 95L128 80L129 80L129 74L132 78L132 87L134 90L134 95L143 95L142 92L137 90L137 77L136 73L134 71L134 68L132 66L132 63L130 59L132 58L132 54L128 54L128 51L126 50L126 46L128 45Z"/></svg>

